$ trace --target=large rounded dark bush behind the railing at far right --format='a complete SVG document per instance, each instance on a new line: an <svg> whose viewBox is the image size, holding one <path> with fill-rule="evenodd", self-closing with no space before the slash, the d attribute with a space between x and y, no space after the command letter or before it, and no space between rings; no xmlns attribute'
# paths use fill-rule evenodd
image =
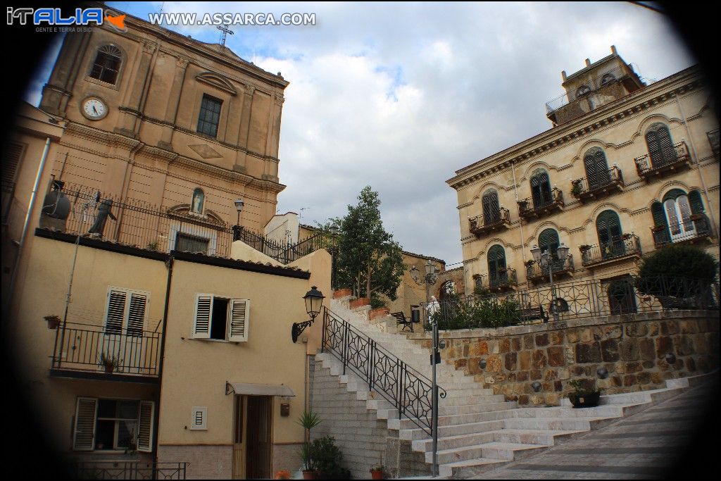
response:
<svg viewBox="0 0 721 481"><path fill-rule="evenodd" d="M710 284L716 280L717 270L718 262L705 250L692 245L670 244L644 258L639 277L665 275L670 278L694 278Z"/></svg>

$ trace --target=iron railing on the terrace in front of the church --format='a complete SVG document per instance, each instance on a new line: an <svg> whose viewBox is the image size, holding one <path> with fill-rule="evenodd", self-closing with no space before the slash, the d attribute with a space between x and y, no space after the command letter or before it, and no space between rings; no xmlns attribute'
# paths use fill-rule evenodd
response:
<svg viewBox="0 0 721 481"><path fill-rule="evenodd" d="M187 209L159 208L135 199L120 201L117 196L81 185L66 184L60 192L68 197L72 206L65 232L140 249L181 250L228 258L232 242L242 240L255 250L287 264L332 245L332 240L323 233L295 244L276 242L249 229L233 229L216 216L200 216ZM102 213L102 209L107 214Z"/></svg>

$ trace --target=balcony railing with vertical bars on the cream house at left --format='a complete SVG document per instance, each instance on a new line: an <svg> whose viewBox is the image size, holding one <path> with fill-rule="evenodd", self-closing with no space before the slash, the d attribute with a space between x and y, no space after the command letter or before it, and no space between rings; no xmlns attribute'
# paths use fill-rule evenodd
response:
<svg viewBox="0 0 721 481"><path fill-rule="evenodd" d="M56 331L50 374L153 382L151 378L159 375L161 343L160 332L113 332L104 326L68 322ZM103 358L110 359L112 367L106 367Z"/></svg>

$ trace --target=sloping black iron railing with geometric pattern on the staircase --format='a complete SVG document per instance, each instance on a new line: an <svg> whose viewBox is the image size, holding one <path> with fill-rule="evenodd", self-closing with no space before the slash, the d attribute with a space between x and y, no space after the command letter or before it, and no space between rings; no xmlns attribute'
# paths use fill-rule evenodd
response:
<svg viewBox="0 0 721 481"><path fill-rule="evenodd" d="M343 374L350 369L361 376L368 384L368 390L393 404L399 418L410 419L430 436L433 427L430 379L324 308L321 352L326 351L342 362ZM441 398L446 397L446 391L441 387L438 392Z"/></svg>

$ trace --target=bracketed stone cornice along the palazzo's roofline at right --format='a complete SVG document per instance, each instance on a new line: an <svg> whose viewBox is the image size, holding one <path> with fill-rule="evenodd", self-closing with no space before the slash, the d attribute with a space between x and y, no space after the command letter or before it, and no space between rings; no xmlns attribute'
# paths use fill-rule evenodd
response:
<svg viewBox="0 0 721 481"><path fill-rule="evenodd" d="M498 152L490 157L474 162L467 167L456 171L456 176L446 180L446 183L458 190L476 180L494 172L504 170L511 164L523 162L570 141L588 135L606 125L631 115L647 110L660 102L666 102L677 95L696 89L702 85L698 69L689 67L684 71L668 76L645 89L628 95L622 99L604 105L598 110L589 112L567 124L559 125L548 131L528 138L521 144Z"/></svg>

